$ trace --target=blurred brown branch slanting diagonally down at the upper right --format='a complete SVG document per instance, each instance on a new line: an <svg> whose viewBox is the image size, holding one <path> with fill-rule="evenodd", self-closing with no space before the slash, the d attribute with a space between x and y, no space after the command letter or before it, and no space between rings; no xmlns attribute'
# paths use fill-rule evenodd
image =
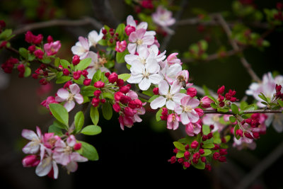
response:
<svg viewBox="0 0 283 189"><path fill-rule="evenodd" d="M231 38L232 37L231 29L229 28L229 25L224 20L223 16L220 13L216 13L214 15L214 18L216 18L217 21L219 21L219 24L224 29L227 37L229 38L229 42L230 42L231 46L233 47L233 50L236 50L236 51L240 50L240 47L238 47L237 42L235 40L233 40L233 38ZM255 74L255 71L253 71L250 64L246 60L246 58L243 56L243 57L240 58L240 60L241 60L241 63L243 64L243 67L245 67L246 70L248 71L248 74L250 74L250 77L257 82L260 82L260 78L258 77L257 74Z"/></svg>

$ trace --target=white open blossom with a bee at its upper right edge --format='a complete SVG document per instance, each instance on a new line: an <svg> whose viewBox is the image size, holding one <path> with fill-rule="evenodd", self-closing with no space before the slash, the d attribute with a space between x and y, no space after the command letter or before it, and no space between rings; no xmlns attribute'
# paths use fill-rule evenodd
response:
<svg viewBox="0 0 283 189"><path fill-rule="evenodd" d="M150 103L151 108L155 110L166 105L169 110L174 110L176 105L180 105L181 99L187 96L185 93L179 93L180 89L181 86L175 81L169 90L169 84L162 80L158 84L158 91L161 96L158 96Z"/></svg>

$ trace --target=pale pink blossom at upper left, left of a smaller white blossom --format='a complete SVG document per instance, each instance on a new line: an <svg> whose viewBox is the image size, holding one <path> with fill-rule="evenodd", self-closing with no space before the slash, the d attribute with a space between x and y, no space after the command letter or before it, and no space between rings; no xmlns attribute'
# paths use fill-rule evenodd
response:
<svg viewBox="0 0 283 189"><path fill-rule="evenodd" d="M88 39L80 36L79 42L76 42L76 45L71 47L71 52L73 52L74 55L78 55L80 59L86 58L89 52Z"/></svg>

